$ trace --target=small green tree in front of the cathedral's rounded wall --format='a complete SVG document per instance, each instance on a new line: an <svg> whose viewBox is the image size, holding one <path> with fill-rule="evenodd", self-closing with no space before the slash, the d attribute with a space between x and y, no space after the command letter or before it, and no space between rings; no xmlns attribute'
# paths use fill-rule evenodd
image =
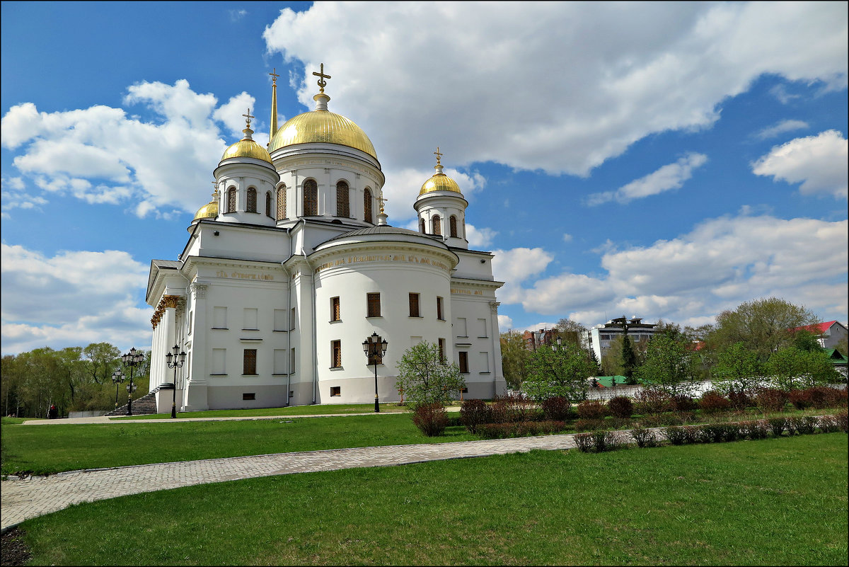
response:
<svg viewBox="0 0 849 567"><path fill-rule="evenodd" d="M415 411L424 404L450 403L466 387L463 374L456 364L442 360L439 346L422 341L411 346L398 362L396 388Z"/></svg>

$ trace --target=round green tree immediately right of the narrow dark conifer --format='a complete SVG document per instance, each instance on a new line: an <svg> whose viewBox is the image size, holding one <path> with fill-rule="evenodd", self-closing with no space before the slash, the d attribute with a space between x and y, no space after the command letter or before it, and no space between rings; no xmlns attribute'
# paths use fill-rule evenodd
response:
<svg viewBox="0 0 849 567"><path fill-rule="evenodd" d="M669 394L690 394L699 373L699 354L682 340L656 335L649 340L645 361L635 375L646 385Z"/></svg>

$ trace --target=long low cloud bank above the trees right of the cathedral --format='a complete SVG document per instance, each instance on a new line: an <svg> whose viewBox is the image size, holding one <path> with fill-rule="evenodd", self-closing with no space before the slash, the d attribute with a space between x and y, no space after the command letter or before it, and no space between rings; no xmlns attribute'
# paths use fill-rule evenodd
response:
<svg viewBox="0 0 849 567"><path fill-rule="evenodd" d="M498 297L527 312L569 313L585 324L599 323L602 313L700 324L723 309L771 295L846 313L847 239L845 220L721 217L676 239L610 248L602 254L601 275L560 273L529 287L514 285Z"/></svg>

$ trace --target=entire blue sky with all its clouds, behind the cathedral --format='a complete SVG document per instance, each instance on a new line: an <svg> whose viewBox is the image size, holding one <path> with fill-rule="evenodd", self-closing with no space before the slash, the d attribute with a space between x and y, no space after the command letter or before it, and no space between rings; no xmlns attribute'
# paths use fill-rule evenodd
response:
<svg viewBox="0 0 849 567"><path fill-rule="evenodd" d="M3 354L149 345L256 115L363 127L387 212L439 146L500 325L711 323L779 296L846 323L846 3L2 4ZM308 77L308 78L307 78Z"/></svg>

